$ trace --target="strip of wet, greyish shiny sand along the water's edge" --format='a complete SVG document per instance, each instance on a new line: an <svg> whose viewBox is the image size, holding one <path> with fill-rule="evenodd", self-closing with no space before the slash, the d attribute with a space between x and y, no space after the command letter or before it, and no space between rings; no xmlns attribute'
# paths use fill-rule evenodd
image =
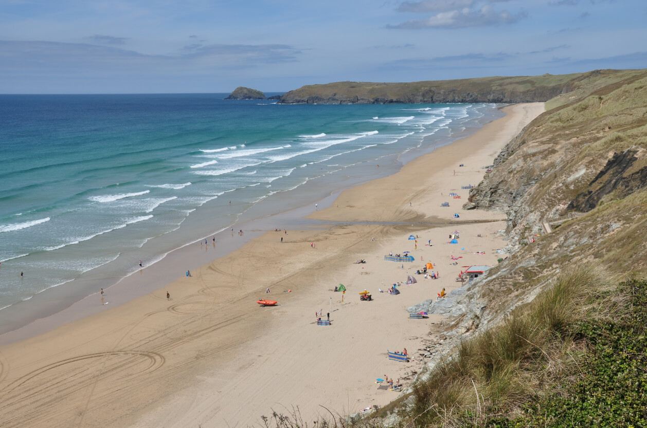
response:
<svg viewBox="0 0 647 428"><path fill-rule="evenodd" d="M500 111L504 107L505 106L498 105L493 110ZM182 272L186 272L186 270L195 270L195 268L202 266L203 264L212 262L214 259L223 257L232 251L238 250L243 244L245 244L245 242L258 236L258 234L262 233L263 230L274 229L277 223L281 228L301 227L304 220L307 220L307 215L311 214L311 211L313 211L312 208L315 202L320 205L321 209L323 209L327 204L332 204L336 195L340 194L342 191L349 189L350 187L359 186L370 180L389 177L390 175L397 173L397 171L399 171L404 165L408 164L418 156L428 155L429 153L433 153L433 151L437 150L439 147L453 144L456 140L466 138L475 132L478 132L483 126L482 121L484 119L488 121L485 123L490 123L492 120L496 120L496 118L498 118L498 115L493 114L492 112L490 112L490 115L474 118L474 122L470 127L463 129L463 131L458 131L451 136L443 136L437 140L439 144L438 147L433 145L426 148L413 149L405 153L389 155L389 162L386 162L386 164L386 159L384 158L367 163L367 165L377 163L382 164L378 170L371 170L368 166L356 166L358 167L358 171L355 171L351 176L347 176L346 179L339 177L334 181L332 192L330 192L326 186L325 178L316 178L306 185L307 189L303 189L298 195L296 195L300 198L300 202L302 203L300 206L297 205L296 208L290 208L286 211L279 208L278 212L276 212L276 207L281 206L281 200L286 201L286 198L288 198L288 200L291 201L291 198L294 198L295 195L293 195L292 192L287 192L285 195L283 193L273 195L272 200L263 200L260 204L250 206L250 208L239 213L234 224L230 225L234 226L236 230L242 228L243 230L248 231L244 240L236 237L236 240L232 241L229 236L230 226L227 226L219 233L210 233L205 236L201 236L202 233L204 233L204 230L201 230L200 233L197 234L201 236L200 238L195 239L193 242L181 244L177 248L166 252L161 258L155 259L153 264L144 266L143 270L135 270L132 273L128 273L123 276L104 276L100 273L95 275L93 272L89 272L87 275L82 275L71 283L47 288L42 292L33 295L24 303L18 302L17 304L14 303L13 305L9 305L5 310L0 310L0 345L43 334L52 330L52 328L55 328L56 326L61 326L65 323L76 321L98 312L103 312L104 310L113 308L114 305L122 305L137 297L142 297L151 292L155 292L161 287L166 286L166 284L175 281L175 279L177 279L177 275L181 275ZM481 125L479 126L479 124ZM432 136L429 136L428 138L433 137L437 136L432 134ZM420 155L420 153L422 153L422 155ZM322 180L323 183L320 183ZM307 201L304 200L303 195L307 195ZM316 198L320 199L311 200L310 198L312 195L316 195ZM274 198L278 198L278 200L275 201ZM263 213L264 209L267 208L272 211L269 216ZM209 209L210 208L207 206L203 211L209 211ZM205 214L203 213L201 215L204 216ZM277 219L278 222L274 222L273 219ZM312 227L310 224L312 221L313 220L305 223L308 224L309 227ZM329 224L322 224L322 227L329 226ZM250 230L252 233L249 233ZM213 235L217 237L217 246L211 245ZM205 254L197 254L195 251L188 250L188 247L193 244L199 245L199 242L201 242L202 239L208 239L210 249L215 250L215 252L210 251ZM224 248L223 244L225 245ZM178 271L177 269L170 270L166 267L180 264L182 266L186 266L186 268ZM153 272L151 272L151 270ZM87 294L87 292L79 294L79 290L87 290L87 288L84 288L85 284L93 284L93 292L90 294ZM104 290L112 289L114 291L113 295L118 295L118 298L112 299L110 302L110 305L113 306L108 305L98 308L95 305L94 299L99 295L98 290L100 288L104 288ZM23 308L24 305L29 306L28 308Z"/></svg>

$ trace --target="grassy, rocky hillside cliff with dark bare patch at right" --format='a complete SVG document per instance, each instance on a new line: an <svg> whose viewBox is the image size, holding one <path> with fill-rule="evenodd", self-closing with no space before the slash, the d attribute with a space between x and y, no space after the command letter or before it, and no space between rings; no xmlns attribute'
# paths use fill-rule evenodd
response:
<svg viewBox="0 0 647 428"><path fill-rule="evenodd" d="M505 212L516 250L527 235L542 233L542 219L586 213L643 191L646 84L641 70L536 118L503 149L464 208Z"/></svg>

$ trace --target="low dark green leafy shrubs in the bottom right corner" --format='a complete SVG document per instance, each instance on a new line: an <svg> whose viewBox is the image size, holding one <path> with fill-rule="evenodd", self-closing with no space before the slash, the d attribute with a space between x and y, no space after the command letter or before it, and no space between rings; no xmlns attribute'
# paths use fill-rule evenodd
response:
<svg viewBox="0 0 647 428"><path fill-rule="evenodd" d="M514 417L488 416L488 428L647 427L647 281L619 286L628 301L613 320L569 328L588 348L575 383L553 388Z"/></svg>

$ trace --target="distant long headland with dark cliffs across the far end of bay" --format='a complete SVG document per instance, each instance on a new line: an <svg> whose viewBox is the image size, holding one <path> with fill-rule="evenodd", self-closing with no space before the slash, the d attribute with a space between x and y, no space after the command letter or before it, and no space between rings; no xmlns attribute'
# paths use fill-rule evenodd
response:
<svg viewBox="0 0 647 428"><path fill-rule="evenodd" d="M619 70L558 76L492 77L411 83L336 82L309 85L281 96L284 104L525 103L545 102Z"/></svg>

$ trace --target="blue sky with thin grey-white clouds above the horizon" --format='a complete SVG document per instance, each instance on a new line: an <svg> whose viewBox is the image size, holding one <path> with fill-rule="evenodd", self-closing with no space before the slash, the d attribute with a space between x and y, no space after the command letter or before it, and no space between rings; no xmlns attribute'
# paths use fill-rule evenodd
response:
<svg viewBox="0 0 647 428"><path fill-rule="evenodd" d="M646 0L0 0L0 93L647 68Z"/></svg>

